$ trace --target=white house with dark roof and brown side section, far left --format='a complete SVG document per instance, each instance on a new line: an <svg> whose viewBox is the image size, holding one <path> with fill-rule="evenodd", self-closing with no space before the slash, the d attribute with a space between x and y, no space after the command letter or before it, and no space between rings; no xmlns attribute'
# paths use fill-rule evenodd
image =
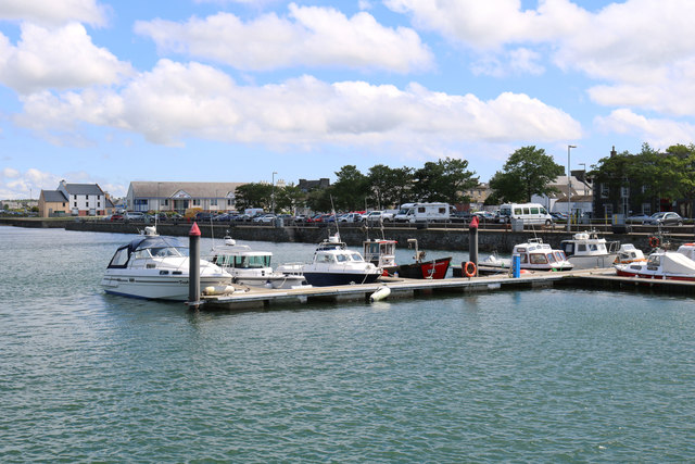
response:
<svg viewBox="0 0 695 464"><path fill-rule="evenodd" d="M61 180L55 190L41 190L39 215L103 216L113 213L113 204L99 184L67 184Z"/></svg>

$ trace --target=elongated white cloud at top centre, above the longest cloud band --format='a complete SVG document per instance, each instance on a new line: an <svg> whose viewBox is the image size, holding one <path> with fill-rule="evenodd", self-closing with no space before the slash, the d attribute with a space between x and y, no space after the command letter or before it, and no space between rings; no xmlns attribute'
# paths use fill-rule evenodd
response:
<svg viewBox="0 0 695 464"><path fill-rule="evenodd" d="M379 68L397 73L426 70L433 55L409 28L389 28L359 12L352 17L330 9L290 4L289 17L264 14L243 23L229 13L186 23L138 22L162 53L186 53L240 70L288 66Z"/></svg>

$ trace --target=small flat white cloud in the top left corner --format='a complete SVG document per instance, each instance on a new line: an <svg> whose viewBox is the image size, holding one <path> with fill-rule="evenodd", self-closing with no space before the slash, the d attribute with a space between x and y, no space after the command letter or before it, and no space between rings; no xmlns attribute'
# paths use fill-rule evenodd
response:
<svg viewBox="0 0 695 464"><path fill-rule="evenodd" d="M2 0L0 20L29 21L45 25L70 22L102 26L106 9L96 0Z"/></svg>

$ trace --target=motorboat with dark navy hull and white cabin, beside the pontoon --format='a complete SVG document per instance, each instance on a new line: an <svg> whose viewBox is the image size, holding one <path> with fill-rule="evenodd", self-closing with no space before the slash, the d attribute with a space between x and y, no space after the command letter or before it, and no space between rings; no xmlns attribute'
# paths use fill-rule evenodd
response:
<svg viewBox="0 0 695 464"><path fill-rule="evenodd" d="M306 281L315 287L371 284L382 272L367 263L358 251L348 250L338 234L320 242L313 261L301 266Z"/></svg>

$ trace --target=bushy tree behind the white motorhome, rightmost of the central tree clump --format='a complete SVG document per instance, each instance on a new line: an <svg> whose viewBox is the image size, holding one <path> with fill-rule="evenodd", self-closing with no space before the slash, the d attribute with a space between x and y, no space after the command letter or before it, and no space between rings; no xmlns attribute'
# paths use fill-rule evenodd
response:
<svg viewBox="0 0 695 464"><path fill-rule="evenodd" d="M445 158L427 162L414 174L413 193L421 201L460 203L467 200L464 191L479 183L476 173L468 171L468 161Z"/></svg>

